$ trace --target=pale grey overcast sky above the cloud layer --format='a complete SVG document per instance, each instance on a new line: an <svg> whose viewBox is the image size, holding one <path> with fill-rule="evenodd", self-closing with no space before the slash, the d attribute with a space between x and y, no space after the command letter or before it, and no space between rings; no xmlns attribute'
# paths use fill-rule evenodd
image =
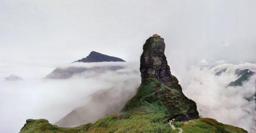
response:
<svg viewBox="0 0 256 133"><path fill-rule="evenodd" d="M139 61L165 39L167 60L256 59L255 0L0 0L0 63L73 62L90 51ZM178 61L178 62L177 62Z"/></svg>

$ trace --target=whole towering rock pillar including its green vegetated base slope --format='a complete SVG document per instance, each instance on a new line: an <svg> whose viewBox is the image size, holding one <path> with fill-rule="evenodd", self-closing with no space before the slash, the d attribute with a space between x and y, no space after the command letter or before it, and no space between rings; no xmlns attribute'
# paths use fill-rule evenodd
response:
<svg viewBox="0 0 256 133"><path fill-rule="evenodd" d="M198 118L196 103L183 94L177 78L171 75L164 52L163 38L158 36L146 40L140 56L142 83L122 111L162 112L165 114L162 119L168 120Z"/></svg>

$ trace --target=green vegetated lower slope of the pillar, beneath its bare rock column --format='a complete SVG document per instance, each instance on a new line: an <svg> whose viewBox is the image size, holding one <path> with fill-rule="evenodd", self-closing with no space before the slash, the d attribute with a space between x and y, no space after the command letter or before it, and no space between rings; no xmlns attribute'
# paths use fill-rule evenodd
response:
<svg viewBox="0 0 256 133"><path fill-rule="evenodd" d="M181 88L169 88L168 86L156 78L146 79L122 111L162 113L164 114L162 121L168 121L171 118L180 121L198 118L196 103L188 99L182 93Z"/></svg>

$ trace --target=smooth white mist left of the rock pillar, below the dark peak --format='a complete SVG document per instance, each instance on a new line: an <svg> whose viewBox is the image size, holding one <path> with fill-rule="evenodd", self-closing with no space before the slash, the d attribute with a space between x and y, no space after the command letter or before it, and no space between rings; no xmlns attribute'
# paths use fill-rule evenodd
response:
<svg viewBox="0 0 256 133"><path fill-rule="evenodd" d="M52 71L52 68L34 69L16 68L14 73L23 78L23 81L0 81L0 132L19 132L28 118L45 118L50 123L55 123L77 107L84 106L97 90L116 87L119 89L115 95L122 92L133 92L140 84L138 63L128 62L102 62L102 63L71 63L58 64L56 67L103 67L123 66L123 69L105 72L84 72L68 79L43 79ZM43 65L48 66L48 65ZM51 65L49 65L51 66ZM29 66L27 66L30 68ZM39 69L40 68L40 69ZM49 71L50 70L50 71ZM22 71L22 72L21 72ZM34 76L26 73L34 73ZM6 72L2 77L9 76ZM133 79L129 87L125 82ZM129 95L129 94L127 94ZM133 95L133 94L130 94ZM100 110L98 110L100 113Z"/></svg>

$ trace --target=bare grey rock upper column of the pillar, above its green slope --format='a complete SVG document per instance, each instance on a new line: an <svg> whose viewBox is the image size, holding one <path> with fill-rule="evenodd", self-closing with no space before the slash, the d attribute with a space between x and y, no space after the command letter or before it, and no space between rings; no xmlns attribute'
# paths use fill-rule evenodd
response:
<svg viewBox="0 0 256 133"><path fill-rule="evenodd" d="M157 78L163 82L170 81L170 67L164 54L164 38L150 37L143 45L140 56L140 73L142 81L146 78Z"/></svg>

